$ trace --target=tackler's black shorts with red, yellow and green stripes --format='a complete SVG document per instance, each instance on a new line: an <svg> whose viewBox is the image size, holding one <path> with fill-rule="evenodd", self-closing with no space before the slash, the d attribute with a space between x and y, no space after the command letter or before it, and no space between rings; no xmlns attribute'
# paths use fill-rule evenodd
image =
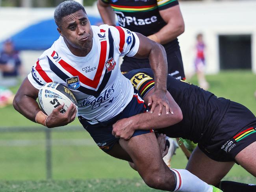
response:
<svg viewBox="0 0 256 192"><path fill-rule="evenodd" d="M236 155L256 141L256 117L245 106L230 102L219 125L205 145L198 147L215 161L235 161Z"/></svg>

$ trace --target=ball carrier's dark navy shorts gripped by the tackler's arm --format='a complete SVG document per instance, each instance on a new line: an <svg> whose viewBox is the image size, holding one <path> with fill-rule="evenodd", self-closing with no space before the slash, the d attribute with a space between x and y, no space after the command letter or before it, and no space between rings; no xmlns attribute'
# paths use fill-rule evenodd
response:
<svg viewBox="0 0 256 192"><path fill-rule="evenodd" d="M128 118L139 113L145 113L147 111L147 107L144 104L144 101L142 100L143 102L141 102L141 100L142 99L140 94L138 93L137 90L134 89L134 96L131 102L124 108L124 110L121 113L117 114L108 121L100 122L95 125L90 125L82 116L78 116L78 119L80 123L83 125L83 127L90 133L91 137L96 142L98 147L105 152L110 151L113 148L113 146L117 142L119 142L119 138L115 138L115 136L112 135L112 125L122 118ZM150 133L152 131L152 129L136 130L134 131L132 137L142 135L145 133Z"/></svg>

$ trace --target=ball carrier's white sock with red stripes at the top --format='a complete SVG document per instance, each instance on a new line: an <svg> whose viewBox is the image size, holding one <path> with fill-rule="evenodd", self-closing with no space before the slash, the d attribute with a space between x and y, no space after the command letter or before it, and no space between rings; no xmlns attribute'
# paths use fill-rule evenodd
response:
<svg viewBox="0 0 256 192"><path fill-rule="evenodd" d="M174 173L176 186L174 191L180 192L212 192L212 186L208 185L186 169L171 169Z"/></svg>

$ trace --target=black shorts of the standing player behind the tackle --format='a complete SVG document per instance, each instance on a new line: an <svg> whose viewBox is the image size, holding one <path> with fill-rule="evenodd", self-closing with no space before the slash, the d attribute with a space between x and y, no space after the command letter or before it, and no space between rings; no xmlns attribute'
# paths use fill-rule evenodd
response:
<svg viewBox="0 0 256 192"><path fill-rule="evenodd" d="M170 51L166 50L166 54L168 63L168 74L177 79L186 79L180 49ZM124 56L124 61L121 65L122 72L129 72L131 70L140 68L150 68L148 59L137 59L134 57Z"/></svg>

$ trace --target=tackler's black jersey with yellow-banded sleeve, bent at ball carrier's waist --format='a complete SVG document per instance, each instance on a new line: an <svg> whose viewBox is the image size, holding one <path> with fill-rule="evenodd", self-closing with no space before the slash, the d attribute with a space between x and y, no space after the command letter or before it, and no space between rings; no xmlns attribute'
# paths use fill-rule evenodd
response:
<svg viewBox="0 0 256 192"><path fill-rule="evenodd" d="M132 70L124 76L130 79L142 97L154 87L154 75L149 68ZM209 91L170 75L167 77L167 90L182 110L183 120L173 126L156 130L169 137L182 137L195 143L207 143L223 118L230 100L217 98Z"/></svg>

